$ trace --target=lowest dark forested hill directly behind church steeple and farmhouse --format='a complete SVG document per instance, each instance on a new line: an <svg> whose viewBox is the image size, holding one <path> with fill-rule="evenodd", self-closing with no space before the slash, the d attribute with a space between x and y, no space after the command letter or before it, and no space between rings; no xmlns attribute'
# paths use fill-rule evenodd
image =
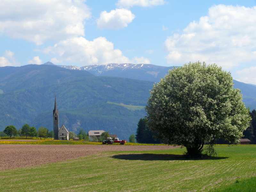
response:
<svg viewBox="0 0 256 192"><path fill-rule="evenodd" d="M64 124L67 128L72 128L73 132L78 132L81 128L85 132L104 130L125 139L136 132L136 124L144 116L144 109L133 111L104 101L87 108L59 110L60 126ZM39 114L31 124L36 127L52 127L52 111Z"/></svg>

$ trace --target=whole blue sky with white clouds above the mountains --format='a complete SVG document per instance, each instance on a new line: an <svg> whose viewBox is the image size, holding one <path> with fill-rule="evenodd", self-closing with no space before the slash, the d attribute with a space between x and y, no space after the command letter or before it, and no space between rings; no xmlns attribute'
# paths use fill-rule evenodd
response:
<svg viewBox="0 0 256 192"><path fill-rule="evenodd" d="M256 84L256 1L1 0L0 67L205 61Z"/></svg>

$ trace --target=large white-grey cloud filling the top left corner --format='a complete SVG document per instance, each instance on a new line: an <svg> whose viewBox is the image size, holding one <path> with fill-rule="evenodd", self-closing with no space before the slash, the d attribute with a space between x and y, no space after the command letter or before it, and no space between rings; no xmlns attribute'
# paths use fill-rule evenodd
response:
<svg viewBox="0 0 256 192"><path fill-rule="evenodd" d="M0 34L43 44L84 36L90 10L83 0L1 0Z"/></svg>

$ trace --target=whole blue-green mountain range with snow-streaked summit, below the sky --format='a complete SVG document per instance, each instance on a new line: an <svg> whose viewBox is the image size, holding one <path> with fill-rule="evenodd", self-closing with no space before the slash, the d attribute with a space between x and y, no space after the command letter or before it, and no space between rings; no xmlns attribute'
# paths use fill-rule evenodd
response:
<svg viewBox="0 0 256 192"><path fill-rule="evenodd" d="M104 130L128 139L136 133L139 119L146 116L143 106L149 90L169 69L128 63L78 68L50 62L0 67L0 131L10 124L19 129L26 123L51 131L56 93L60 125L69 131ZM246 107L256 109L256 86L234 83Z"/></svg>

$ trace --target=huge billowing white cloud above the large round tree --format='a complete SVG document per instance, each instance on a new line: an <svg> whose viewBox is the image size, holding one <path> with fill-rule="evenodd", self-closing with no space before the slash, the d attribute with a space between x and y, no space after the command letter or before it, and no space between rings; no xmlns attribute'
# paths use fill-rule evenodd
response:
<svg viewBox="0 0 256 192"><path fill-rule="evenodd" d="M164 45L171 64L216 63L225 69L256 60L256 7L216 5Z"/></svg>

